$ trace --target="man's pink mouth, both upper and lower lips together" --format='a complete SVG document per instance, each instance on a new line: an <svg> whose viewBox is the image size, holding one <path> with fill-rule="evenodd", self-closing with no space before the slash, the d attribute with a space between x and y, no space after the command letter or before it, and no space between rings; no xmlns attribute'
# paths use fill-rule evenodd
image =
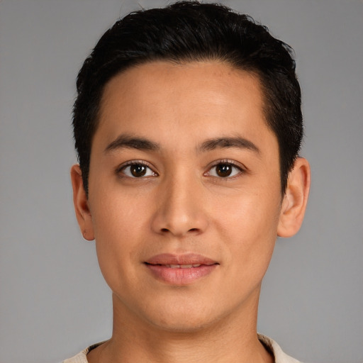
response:
<svg viewBox="0 0 363 363"><path fill-rule="evenodd" d="M153 277L167 284L186 285L206 277L219 265L203 255L156 255L144 262Z"/></svg>

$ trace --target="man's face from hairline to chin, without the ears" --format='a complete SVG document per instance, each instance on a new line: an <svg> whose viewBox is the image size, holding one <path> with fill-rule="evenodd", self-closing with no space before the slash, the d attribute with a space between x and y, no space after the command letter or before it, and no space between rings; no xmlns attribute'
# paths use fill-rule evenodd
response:
<svg viewBox="0 0 363 363"><path fill-rule="evenodd" d="M113 77L88 206L101 272L134 323L184 331L255 316L281 211L257 78L218 62Z"/></svg>

